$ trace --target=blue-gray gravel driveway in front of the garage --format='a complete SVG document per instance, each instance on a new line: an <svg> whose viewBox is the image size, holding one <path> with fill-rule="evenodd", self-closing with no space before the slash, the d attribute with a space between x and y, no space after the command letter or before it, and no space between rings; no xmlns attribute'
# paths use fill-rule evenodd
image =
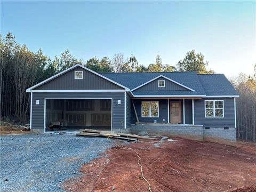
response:
<svg viewBox="0 0 256 192"><path fill-rule="evenodd" d="M25 134L1 136L1 191L63 191L82 164L112 147L105 138ZM8 180L8 181L5 181Z"/></svg>

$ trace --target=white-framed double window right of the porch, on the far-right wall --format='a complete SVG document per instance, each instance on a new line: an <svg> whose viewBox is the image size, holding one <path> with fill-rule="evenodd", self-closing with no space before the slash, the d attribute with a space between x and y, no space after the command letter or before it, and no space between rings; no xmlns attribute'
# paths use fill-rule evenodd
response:
<svg viewBox="0 0 256 192"><path fill-rule="evenodd" d="M224 117L223 100L205 100L205 117Z"/></svg>

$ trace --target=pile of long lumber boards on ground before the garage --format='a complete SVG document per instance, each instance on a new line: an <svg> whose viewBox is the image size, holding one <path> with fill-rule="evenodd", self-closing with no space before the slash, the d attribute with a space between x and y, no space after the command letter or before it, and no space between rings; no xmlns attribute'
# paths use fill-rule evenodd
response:
<svg viewBox="0 0 256 192"><path fill-rule="evenodd" d="M90 130L84 129L80 133L76 134L78 137L107 137L115 139L124 139L127 141L137 141L137 140L153 140L156 138L142 137L136 134L127 134L127 133L117 133L114 131L100 131L100 130Z"/></svg>

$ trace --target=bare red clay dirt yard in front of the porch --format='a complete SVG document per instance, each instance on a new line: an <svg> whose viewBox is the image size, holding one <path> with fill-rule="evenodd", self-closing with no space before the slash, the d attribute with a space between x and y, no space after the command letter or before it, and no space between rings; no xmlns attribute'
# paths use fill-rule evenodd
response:
<svg viewBox="0 0 256 192"><path fill-rule="evenodd" d="M154 142L126 146L141 157L152 191L256 191L256 145L173 139L166 139L159 147ZM84 164L80 169L82 176L65 181L63 189L149 191L134 151L118 146L105 155Z"/></svg>

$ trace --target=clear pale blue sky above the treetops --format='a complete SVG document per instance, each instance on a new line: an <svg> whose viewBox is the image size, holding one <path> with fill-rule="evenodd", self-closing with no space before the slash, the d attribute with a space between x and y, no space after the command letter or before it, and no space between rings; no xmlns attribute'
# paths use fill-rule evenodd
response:
<svg viewBox="0 0 256 192"><path fill-rule="evenodd" d="M68 49L85 62L121 52L146 66L159 54L175 66L195 49L209 69L231 77L253 72L255 10L255 1L1 1L1 34L11 31L51 58Z"/></svg>

